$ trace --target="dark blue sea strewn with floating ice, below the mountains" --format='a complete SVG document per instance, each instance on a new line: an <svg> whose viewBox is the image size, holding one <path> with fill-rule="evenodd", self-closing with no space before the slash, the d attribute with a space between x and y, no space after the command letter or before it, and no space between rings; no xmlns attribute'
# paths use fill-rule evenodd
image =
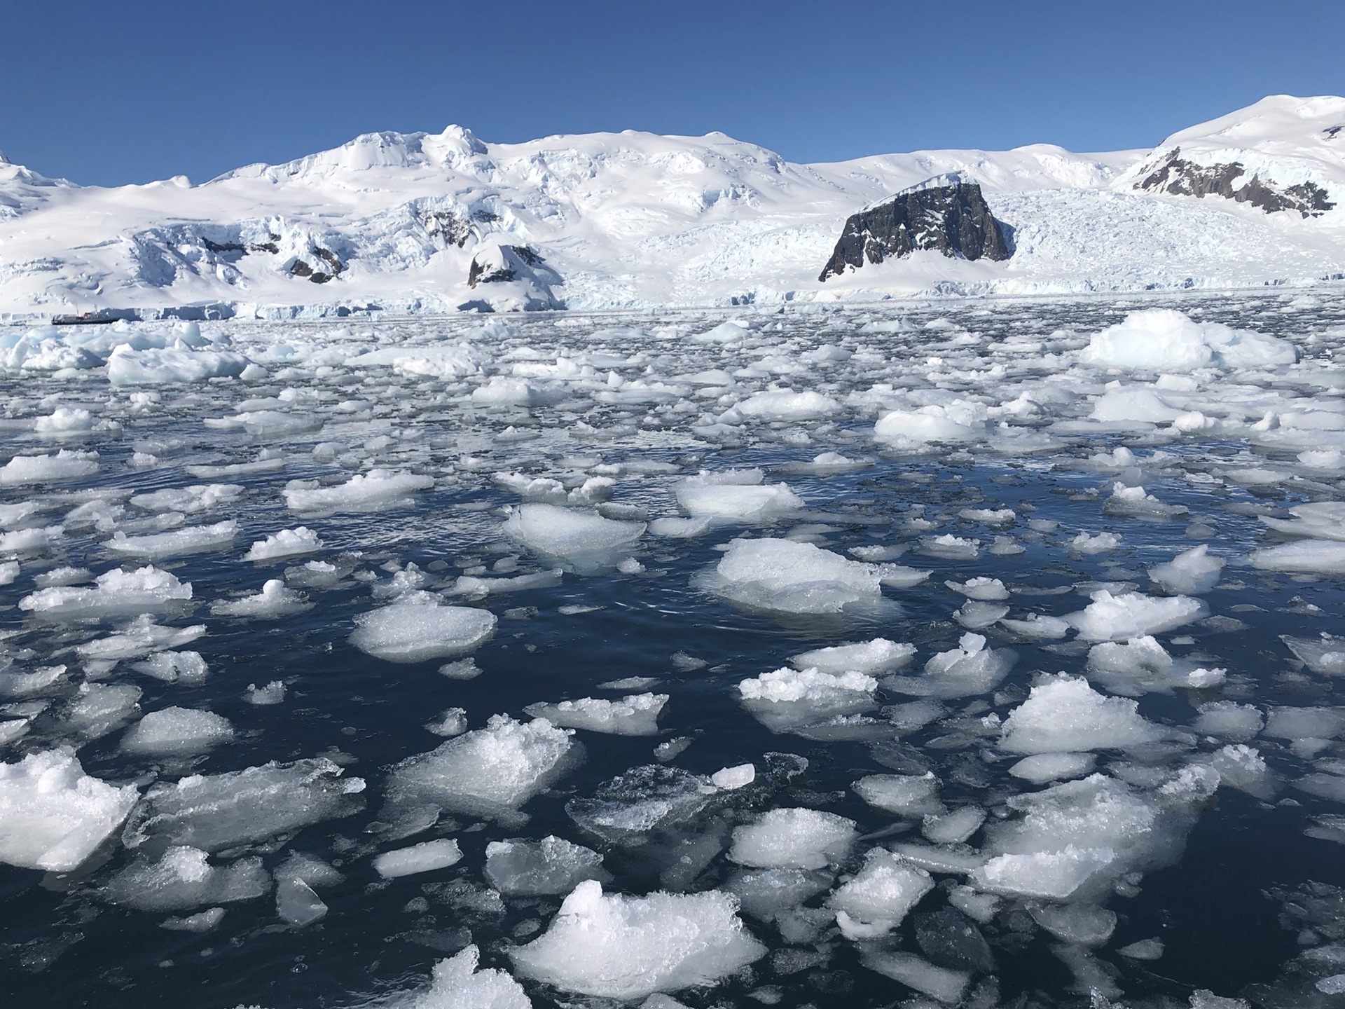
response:
<svg viewBox="0 0 1345 1009"><path fill-rule="evenodd" d="M16 1006L1345 1002L1345 295L0 331Z"/></svg>

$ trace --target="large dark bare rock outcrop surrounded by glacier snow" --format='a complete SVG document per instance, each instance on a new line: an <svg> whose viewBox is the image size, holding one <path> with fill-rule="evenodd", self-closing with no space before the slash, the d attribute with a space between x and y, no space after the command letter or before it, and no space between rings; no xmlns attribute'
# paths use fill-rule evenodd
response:
<svg viewBox="0 0 1345 1009"><path fill-rule="evenodd" d="M818 280L916 249L963 260L999 261L1011 254L981 186L955 174L939 175L851 214Z"/></svg>

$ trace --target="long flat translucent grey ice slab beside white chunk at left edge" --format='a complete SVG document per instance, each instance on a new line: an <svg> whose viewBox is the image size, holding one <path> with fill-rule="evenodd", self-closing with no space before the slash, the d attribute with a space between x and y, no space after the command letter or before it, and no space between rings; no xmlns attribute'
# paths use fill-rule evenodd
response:
<svg viewBox="0 0 1345 1009"><path fill-rule="evenodd" d="M219 852L348 817L360 806L354 796L364 782L342 774L338 764L315 757L160 782L145 792L121 842L126 848L153 841Z"/></svg>

